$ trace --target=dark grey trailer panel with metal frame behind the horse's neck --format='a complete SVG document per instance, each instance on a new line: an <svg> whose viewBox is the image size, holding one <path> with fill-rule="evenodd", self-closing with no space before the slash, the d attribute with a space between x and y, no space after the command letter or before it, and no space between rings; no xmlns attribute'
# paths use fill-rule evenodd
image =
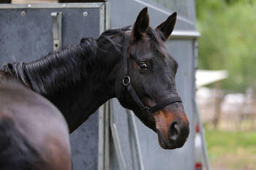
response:
<svg viewBox="0 0 256 170"><path fill-rule="evenodd" d="M105 3L0 4L0 65L33 61L52 52L56 42L66 47L102 31ZM95 113L71 134L74 169L97 169L98 127Z"/></svg>

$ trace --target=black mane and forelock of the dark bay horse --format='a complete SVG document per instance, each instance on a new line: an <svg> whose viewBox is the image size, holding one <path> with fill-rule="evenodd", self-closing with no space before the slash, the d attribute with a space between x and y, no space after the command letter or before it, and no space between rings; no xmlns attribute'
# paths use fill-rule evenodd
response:
<svg viewBox="0 0 256 170"><path fill-rule="evenodd" d="M29 63L7 63L0 70L23 82L24 85L42 94L50 96L63 88L70 87L82 78L86 79L94 69L98 50L105 53L115 51L122 56L123 43L113 40L113 37L129 36L132 26L109 29L104 31L98 39L83 38L80 44L71 45L53 53L49 53L36 61ZM148 28L146 32L154 42L154 50L162 53L162 40L157 32Z"/></svg>

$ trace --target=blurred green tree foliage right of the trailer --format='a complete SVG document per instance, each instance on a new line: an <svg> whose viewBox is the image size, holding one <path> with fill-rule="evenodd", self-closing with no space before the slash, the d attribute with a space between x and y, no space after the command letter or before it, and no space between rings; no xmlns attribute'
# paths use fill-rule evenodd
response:
<svg viewBox="0 0 256 170"><path fill-rule="evenodd" d="M256 89L256 1L196 0L200 69L227 69L228 90Z"/></svg>

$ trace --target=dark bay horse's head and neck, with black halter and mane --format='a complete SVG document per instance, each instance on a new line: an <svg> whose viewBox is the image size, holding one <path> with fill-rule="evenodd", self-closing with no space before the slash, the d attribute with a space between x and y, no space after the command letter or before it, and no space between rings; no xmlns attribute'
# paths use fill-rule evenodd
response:
<svg viewBox="0 0 256 170"><path fill-rule="evenodd" d="M157 132L161 147L175 149L189 135L175 85L178 63L164 44L175 23L176 12L152 29L144 8L132 27L83 38L37 61L8 63L2 72L55 104L70 132L116 97Z"/></svg>

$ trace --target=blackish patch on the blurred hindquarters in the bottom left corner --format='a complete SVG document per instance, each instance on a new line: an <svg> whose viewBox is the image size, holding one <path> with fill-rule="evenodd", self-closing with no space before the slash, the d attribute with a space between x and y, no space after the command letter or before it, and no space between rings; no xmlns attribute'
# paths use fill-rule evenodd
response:
<svg viewBox="0 0 256 170"><path fill-rule="evenodd" d="M0 118L0 169L42 170L43 161L11 118Z"/></svg>

